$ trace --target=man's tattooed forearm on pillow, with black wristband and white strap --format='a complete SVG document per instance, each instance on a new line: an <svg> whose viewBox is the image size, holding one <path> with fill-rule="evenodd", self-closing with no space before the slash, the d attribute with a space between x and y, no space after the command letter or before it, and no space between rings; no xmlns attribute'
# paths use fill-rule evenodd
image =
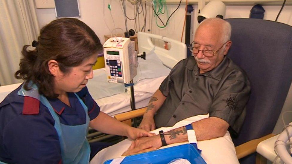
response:
<svg viewBox="0 0 292 164"><path fill-rule="evenodd" d="M229 124L223 119L217 117L209 117L197 122L193 122L192 126L195 130L198 141L209 140L222 137L226 134ZM165 141L167 144L188 141L185 126L165 132Z"/></svg>

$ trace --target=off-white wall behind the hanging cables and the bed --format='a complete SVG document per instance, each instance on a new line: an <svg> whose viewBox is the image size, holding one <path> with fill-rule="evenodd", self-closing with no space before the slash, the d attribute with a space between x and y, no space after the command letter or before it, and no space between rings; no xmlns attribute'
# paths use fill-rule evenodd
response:
<svg viewBox="0 0 292 164"><path fill-rule="evenodd" d="M110 16L109 10L107 9L107 4L109 0L105 1L105 20L110 28L110 30L114 29L114 24L112 22L112 18ZM80 13L81 18L80 20L85 22L86 24L91 27L98 37L101 39L101 42L104 43L104 35L110 34L110 31L107 29L104 18L103 18L103 0L79 0L80 4ZM130 3L126 2L127 4L127 15L130 18L134 17L134 7ZM124 15L121 10L119 0L112 0L112 16L114 18L115 27L120 27L125 31L125 23L124 23ZM169 15L177 8L177 5L167 5ZM197 15L197 6L194 5L194 14L192 19ZM253 5L250 6L226 6L226 18L248 18L250 15L250 9ZM280 5L277 6L263 6L266 10L264 14L264 19L267 20L275 20L276 16L281 8ZM179 40L181 39L182 34L182 26L184 21L185 15L185 4L181 4L179 9L170 19L168 26L164 29L160 29L156 26L155 18L153 17L153 11L150 10L150 6L147 6L147 22L146 22L146 31L151 29L151 33L167 36L172 39ZM282 22L285 24L292 25L292 6L285 6L282 10L281 15L279 16L278 22ZM51 22L52 20L56 19L55 9L37 9L36 10L39 20L40 27L43 27L45 24ZM149 13L150 19L149 22ZM143 26L143 17L140 14L140 27ZM161 16L161 19L166 23L167 16L166 14ZM195 20L193 20L194 22ZM128 29L134 29L134 21L128 20ZM152 25L151 25L152 24ZM121 33L120 30L117 31ZM192 38L191 38L192 39ZM184 36L183 40L184 42Z"/></svg>

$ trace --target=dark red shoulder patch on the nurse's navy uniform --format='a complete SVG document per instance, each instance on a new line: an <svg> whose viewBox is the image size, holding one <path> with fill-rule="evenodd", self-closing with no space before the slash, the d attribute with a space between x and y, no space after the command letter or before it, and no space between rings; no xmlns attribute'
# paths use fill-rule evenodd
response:
<svg viewBox="0 0 292 164"><path fill-rule="evenodd" d="M39 114L39 100L33 97L24 96L22 114L23 115Z"/></svg>

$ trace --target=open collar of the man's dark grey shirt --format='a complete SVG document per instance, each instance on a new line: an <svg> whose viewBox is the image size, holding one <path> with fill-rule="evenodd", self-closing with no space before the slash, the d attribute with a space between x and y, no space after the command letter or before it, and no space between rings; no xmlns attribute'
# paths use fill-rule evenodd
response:
<svg viewBox="0 0 292 164"><path fill-rule="evenodd" d="M209 76L211 75L214 79L221 80L221 77L223 76L223 72L225 68L228 66L229 58L227 56L224 56L222 62L213 70L210 70L206 73L200 74L200 69L197 65L197 62L194 59L194 56L191 56L188 58L186 68L188 70L193 70L195 75L203 75L203 76Z"/></svg>

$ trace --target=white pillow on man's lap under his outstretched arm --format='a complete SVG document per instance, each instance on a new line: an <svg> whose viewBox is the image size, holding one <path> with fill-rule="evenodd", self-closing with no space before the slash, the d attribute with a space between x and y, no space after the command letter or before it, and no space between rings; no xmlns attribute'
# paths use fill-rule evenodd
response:
<svg viewBox="0 0 292 164"><path fill-rule="evenodd" d="M155 134L159 134L160 130L163 130L165 132L170 131L172 129L182 127L182 126L190 124L191 122L195 122L200 119L204 119L208 117L209 117L209 114L189 117L180 122L177 122L172 127L162 127L151 132ZM182 145L185 143L186 142L171 144L171 145L164 146L162 148ZM124 151L126 151L130 145L131 145L131 141L129 139L126 139L108 148L104 148L92 158L92 160L90 161L90 164L101 164L109 159L121 157L121 154L123 154ZM223 137L219 137L212 140L198 141L197 146L199 149L202 150L201 156L208 164L217 164L217 163L238 164L239 163L236 157L234 144L232 142L232 139L228 131Z"/></svg>

